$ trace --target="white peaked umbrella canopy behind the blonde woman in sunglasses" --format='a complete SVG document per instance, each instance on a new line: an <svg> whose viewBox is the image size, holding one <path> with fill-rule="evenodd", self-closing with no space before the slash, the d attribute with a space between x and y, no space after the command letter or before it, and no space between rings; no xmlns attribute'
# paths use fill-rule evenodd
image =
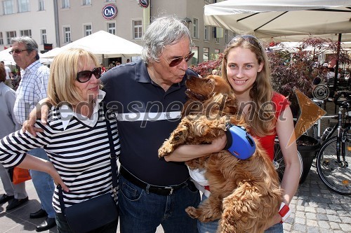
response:
<svg viewBox="0 0 351 233"><path fill-rule="evenodd" d="M104 57L138 56L142 50L142 46L136 43L106 31L98 31L62 46L57 50L45 52L43 57L55 57L59 52L68 48L83 48L93 52L95 55L103 55Z"/></svg>

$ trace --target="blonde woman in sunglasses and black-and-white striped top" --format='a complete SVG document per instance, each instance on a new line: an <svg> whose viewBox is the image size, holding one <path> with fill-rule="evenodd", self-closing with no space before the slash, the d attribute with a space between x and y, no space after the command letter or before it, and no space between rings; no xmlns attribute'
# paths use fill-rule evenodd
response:
<svg viewBox="0 0 351 233"><path fill-rule="evenodd" d="M35 127L42 132L37 132L36 137L18 131L0 141L0 163L6 168L18 166L50 174L64 190L65 208L112 192L105 118L111 123L117 155L119 135L116 118L102 108L105 92L100 90L100 76L100 65L91 52L82 49L61 52L51 64L48 101L53 107L48 113L48 124L37 121ZM44 148L50 162L27 154L34 148ZM72 232L62 213L58 187L53 207L58 232ZM117 232L117 219L102 225L98 232Z"/></svg>

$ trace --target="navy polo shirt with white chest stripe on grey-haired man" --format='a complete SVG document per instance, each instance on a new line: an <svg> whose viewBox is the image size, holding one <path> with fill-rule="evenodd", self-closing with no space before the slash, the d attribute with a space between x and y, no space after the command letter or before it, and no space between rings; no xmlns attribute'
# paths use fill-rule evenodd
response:
<svg viewBox="0 0 351 233"><path fill-rule="evenodd" d="M165 92L154 83L143 60L116 66L102 76L107 108L117 113L121 141L119 162L152 185L183 183L189 172L183 162L159 160L157 151L180 122L187 100L185 80L197 76L188 69L182 82Z"/></svg>

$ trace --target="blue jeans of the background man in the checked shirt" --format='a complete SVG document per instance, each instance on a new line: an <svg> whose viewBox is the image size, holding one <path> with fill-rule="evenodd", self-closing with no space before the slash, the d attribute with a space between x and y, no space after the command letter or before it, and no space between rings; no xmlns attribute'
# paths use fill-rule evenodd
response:
<svg viewBox="0 0 351 233"><path fill-rule="evenodd" d="M42 148L30 150L28 154L48 160L48 155L46 155L45 150ZM35 170L30 170L30 176L32 176L34 188L40 199L41 209L44 209L48 213L48 218L55 218L55 210L53 209L53 191L55 190L55 185L53 178L45 172Z"/></svg>

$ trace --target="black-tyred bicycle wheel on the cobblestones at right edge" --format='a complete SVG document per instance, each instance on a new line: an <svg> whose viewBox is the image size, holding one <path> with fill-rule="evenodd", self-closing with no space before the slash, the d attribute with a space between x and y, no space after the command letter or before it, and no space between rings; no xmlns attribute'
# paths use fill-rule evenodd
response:
<svg viewBox="0 0 351 233"><path fill-rule="evenodd" d="M326 140L317 155L317 172L319 178L329 189L341 195L351 195L351 170L350 167L339 167L336 157L337 136ZM345 160L351 160L351 140L345 141ZM340 145L341 149L341 145ZM341 152L340 152L341 159Z"/></svg>

